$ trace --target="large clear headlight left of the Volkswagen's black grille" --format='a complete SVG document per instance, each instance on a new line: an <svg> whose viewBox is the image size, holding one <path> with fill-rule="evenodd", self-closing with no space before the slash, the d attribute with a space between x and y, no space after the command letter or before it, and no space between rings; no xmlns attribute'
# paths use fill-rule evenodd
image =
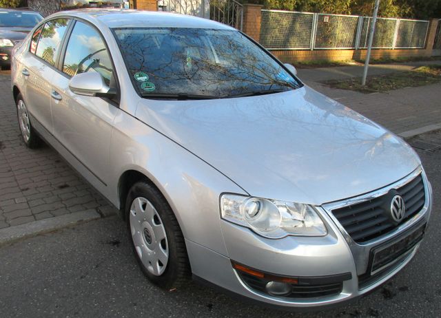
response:
<svg viewBox="0 0 441 318"><path fill-rule="evenodd" d="M322 219L307 204L224 194L220 197L220 213L224 220L268 238L327 234Z"/></svg>

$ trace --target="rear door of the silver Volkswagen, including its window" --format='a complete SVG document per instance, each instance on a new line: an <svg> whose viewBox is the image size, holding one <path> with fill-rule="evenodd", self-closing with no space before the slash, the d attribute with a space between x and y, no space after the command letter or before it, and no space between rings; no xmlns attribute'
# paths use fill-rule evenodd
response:
<svg viewBox="0 0 441 318"><path fill-rule="evenodd" d="M21 75L25 78L25 103L28 111L47 131L52 133L50 109L50 83L57 74L57 61L70 19L54 19L46 22L32 35L29 52L23 59Z"/></svg>

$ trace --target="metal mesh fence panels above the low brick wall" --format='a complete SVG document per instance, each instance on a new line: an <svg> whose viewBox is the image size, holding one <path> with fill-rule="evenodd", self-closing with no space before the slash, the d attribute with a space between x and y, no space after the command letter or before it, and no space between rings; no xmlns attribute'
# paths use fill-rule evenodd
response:
<svg viewBox="0 0 441 318"><path fill-rule="evenodd" d="M372 18L262 10L261 23L260 43L269 50L363 49ZM378 18L373 47L424 48L428 29L429 21Z"/></svg>

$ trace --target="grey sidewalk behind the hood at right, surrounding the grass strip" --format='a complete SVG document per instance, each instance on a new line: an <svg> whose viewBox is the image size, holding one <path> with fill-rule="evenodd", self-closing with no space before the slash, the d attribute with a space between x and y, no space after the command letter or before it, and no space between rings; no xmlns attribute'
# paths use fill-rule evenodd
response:
<svg viewBox="0 0 441 318"><path fill-rule="evenodd" d="M369 75L409 71L413 67L427 64L441 64L441 61L371 65ZM329 79L360 77L362 69L360 65L299 69L298 76L318 92L338 100L396 134L409 137L418 131L441 129L441 83L373 94L331 89L319 83Z"/></svg>

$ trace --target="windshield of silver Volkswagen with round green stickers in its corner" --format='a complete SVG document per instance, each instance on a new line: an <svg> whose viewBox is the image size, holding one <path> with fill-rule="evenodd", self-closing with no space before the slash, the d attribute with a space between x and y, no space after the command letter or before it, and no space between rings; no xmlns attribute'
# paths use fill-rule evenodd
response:
<svg viewBox="0 0 441 318"><path fill-rule="evenodd" d="M235 30L121 28L114 33L136 89L145 97L228 98L301 85Z"/></svg>

